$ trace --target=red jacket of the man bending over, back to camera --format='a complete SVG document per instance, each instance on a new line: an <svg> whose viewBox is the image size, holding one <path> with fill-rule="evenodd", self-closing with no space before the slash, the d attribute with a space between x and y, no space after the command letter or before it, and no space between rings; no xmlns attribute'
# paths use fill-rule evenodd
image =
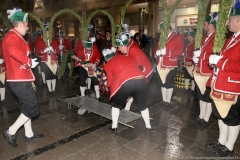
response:
<svg viewBox="0 0 240 160"><path fill-rule="evenodd" d="M110 99L128 80L144 77L134 60L122 55L111 58L104 66L104 70L107 75L107 85L111 90Z"/></svg>

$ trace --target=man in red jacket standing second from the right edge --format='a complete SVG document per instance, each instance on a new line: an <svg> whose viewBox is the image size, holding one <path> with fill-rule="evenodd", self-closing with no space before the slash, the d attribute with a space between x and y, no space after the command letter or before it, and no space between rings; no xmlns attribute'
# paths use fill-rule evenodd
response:
<svg viewBox="0 0 240 160"><path fill-rule="evenodd" d="M213 51L213 43L216 31L216 19L214 15L208 15L204 22L204 32L207 36L203 36L200 50L194 51L193 62L196 68L193 72L196 82L197 98L199 99L200 114L191 120L191 123L197 126L206 126L212 114L211 99L209 97L210 87L206 87L206 83L212 74L212 68L209 66L209 56Z"/></svg>

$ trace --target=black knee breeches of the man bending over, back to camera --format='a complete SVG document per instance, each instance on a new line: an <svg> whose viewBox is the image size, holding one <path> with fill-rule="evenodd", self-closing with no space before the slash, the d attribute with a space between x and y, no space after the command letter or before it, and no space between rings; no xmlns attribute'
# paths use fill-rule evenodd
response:
<svg viewBox="0 0 240 160"><path fill-rule="evenodd" d="M125 82L117 93L113 96L111 105L123 109L128 97L133 97L138 109L143 111L147 108L146 104L147 83L145 79L128 80Z"/></svg>

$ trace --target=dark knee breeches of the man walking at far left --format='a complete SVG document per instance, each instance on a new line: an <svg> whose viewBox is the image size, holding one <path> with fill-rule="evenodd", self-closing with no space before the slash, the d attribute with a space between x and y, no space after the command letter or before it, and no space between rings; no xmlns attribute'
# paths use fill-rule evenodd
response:
<svg viewBox="0 0 240 160"><path fill-rule="evenodd" d="M30 119L36 117L39 114L39 104L32 83L9 82L9 86L21 104L21 113Z"/></svg>

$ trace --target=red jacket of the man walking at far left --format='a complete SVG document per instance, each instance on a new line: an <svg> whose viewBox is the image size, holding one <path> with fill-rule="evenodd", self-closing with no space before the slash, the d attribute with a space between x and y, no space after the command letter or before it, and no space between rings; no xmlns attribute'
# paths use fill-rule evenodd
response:
<svg viewBox="0 0 240 160"><path fill-rule="evenodd" d="M22 35L11 29L2 42L3 58L6 64L7 82L32 82L30 49Z"/></svg>

